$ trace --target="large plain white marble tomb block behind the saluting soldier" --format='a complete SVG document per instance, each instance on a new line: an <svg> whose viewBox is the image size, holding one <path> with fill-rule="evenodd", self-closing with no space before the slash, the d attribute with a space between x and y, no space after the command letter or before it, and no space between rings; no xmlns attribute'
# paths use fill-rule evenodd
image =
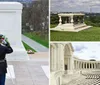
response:
<svg viewBox="0 0 100 85"><path fill-rule="evenodd" d="M0 34L8 38L14 50L7 60L28 60L21 39L22 8L18 2L0 2Z"/></svg>

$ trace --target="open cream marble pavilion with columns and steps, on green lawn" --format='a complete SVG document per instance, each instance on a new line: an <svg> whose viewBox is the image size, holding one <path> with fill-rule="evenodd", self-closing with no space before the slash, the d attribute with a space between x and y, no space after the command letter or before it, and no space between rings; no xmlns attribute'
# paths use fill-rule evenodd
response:
<svg viewBox="0 0 100 85"><path fill-rule="evenodd" d="M83 13L60 13L59 24L57 27L52 28L54 31L72 31L79 32L84 29L88 29L91 26L87 26L84 23Z"/></svg>

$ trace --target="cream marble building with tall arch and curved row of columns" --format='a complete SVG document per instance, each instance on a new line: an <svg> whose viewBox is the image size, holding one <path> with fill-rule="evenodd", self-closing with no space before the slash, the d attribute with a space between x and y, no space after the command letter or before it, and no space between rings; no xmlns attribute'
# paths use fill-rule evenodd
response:
<svg viewBox="0 0 100 85"><path fill-rule="evenodd" d="M50 46L50 70L88 70L100 69L99 61L89 61L73 56L73 48L70 43L53 43Z"/></svg>

